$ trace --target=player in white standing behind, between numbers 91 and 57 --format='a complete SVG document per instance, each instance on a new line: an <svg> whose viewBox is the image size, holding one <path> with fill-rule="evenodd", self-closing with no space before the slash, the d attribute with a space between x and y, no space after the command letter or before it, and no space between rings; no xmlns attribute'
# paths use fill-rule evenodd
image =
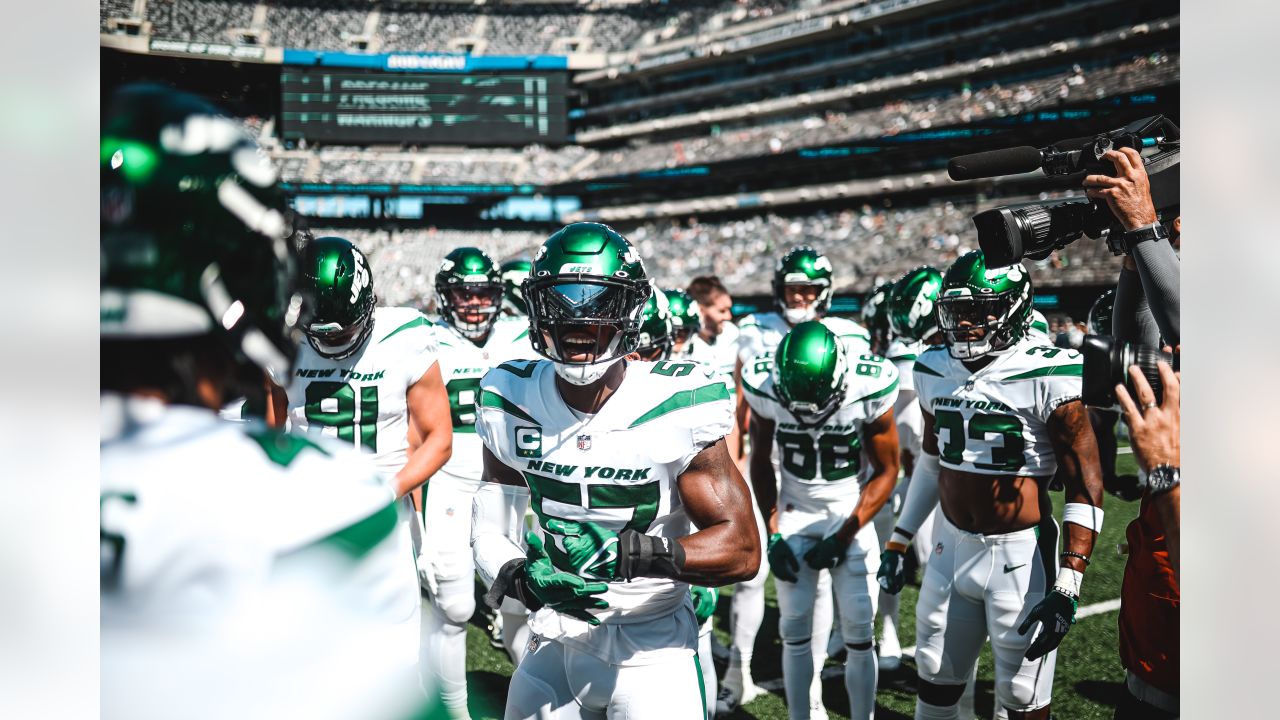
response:
<svg viewBox="0 0 1280 720"><path fill-rule="evenodd" d="M483 452L476 436L480 378L500 363L532 357L529 323L499 318L502 277L476 247L458 247L435 273L440 375L449 397L453 455L431 478L422 501L422 552L419 573L433 605L434 623L422 624L424 661L439 673L444 703L467 712L467 621L475 614L475 562L471 559L471 501L483 483ZM527 612L511 601L502 611L503 644L518 664L527 641Z"/></svg>

